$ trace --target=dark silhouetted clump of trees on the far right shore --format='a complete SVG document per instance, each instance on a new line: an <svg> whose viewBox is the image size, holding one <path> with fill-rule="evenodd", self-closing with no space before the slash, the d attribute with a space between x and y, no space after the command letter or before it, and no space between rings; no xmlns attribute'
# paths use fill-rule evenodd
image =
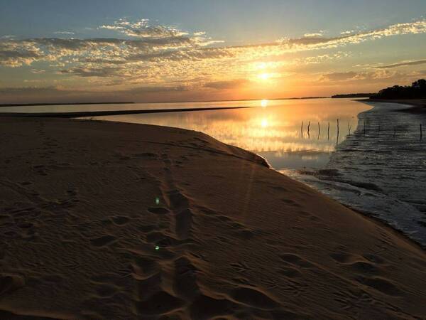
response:
<svg viewBox="0 0 426 320"><path fill-rule="evenodd" d="M419 79L412 85L394 85L380 90L372 99L422 99L426 98L426 80Z"/></svg>

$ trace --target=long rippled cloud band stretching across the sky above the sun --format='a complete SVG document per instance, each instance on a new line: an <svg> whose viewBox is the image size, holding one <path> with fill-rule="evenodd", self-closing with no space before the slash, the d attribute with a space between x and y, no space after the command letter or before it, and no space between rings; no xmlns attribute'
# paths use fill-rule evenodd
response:
<svg viewBox="0 0 426 320"><path fill-rule="evenodd" d="M334 38L307 33L302 38L283 38L275 43L223 47L212 46L220 41L207 37L202 31L190 34L171 26L151 26L147 19L136 22L121 19L100 28L118 31L131 38L7 39L0 41L0 64L17 67L45 60L93 68L94 63L99 67L99 64L126 65L170 60L182 63L187 60L227 58L255 60L285 53L337 48L387 36L426 33L426 20L398 23L383 29Z"/></svg>

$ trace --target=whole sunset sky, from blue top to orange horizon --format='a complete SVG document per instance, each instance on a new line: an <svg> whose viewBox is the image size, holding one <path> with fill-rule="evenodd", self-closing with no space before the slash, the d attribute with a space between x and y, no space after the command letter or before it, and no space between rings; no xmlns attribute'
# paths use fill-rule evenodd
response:
<svg viewBox="0 0 426 320"><path fill-rule="evenodd" d="M1 0L0 104L376 92L425 52L425 0Z"/></svg>

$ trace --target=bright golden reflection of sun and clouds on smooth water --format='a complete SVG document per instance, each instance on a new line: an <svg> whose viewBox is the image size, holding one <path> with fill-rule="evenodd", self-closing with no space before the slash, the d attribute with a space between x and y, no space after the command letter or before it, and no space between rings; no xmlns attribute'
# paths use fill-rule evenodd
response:
<svg viewBox="0 0 426 320"><path fill-rule="evenodd" d="M356 115L370 108L350 100L274 100L271 102L273 106L266 109L257 107L244 110L135 114L101 118L191 129L209 134L226 144L256 152L275 151L276 154L285 154L310 151L307 156L314 157L312 150L323 153L334 151L337 128L330 125L329 139L327 139L328 119L339 118L340 137L344 139L346 123L351 121L352 131L354 131L357 124ZM258 105L258 101L251 103ZM307 119L315 119L322 125L319 140L317 123L312 121L311 139L307 138L306 132L301 137L300 123L302 121L307 123Z"/></svg>

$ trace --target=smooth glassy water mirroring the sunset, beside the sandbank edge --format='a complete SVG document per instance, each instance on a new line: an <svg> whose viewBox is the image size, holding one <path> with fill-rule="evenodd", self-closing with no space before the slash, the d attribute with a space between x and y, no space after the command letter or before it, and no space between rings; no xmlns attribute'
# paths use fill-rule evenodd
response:
<svg viewBox="0 0 426 320"><path fill-rule="evenodd" d="M163 105L156 106L163 108ZM356 129L357 114L371 108L346 99L197 102L169 104L168 107L212 106L253 106L253 108L125 114L95 119L158 124L204 132L226 144L256 152L266 158L273 168L280 170L325 166L337 142L340 143L345 139L349 127L351 132ZM143 104L140 104L139 108L143 109ZM337 137L337 119L339 119L339 137Z"/></svg>

